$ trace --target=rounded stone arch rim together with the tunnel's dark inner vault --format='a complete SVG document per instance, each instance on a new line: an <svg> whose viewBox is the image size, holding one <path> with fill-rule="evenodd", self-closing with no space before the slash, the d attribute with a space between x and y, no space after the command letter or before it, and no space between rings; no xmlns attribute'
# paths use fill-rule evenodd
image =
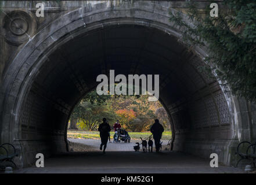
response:
<svg viewBox="0 0 256 185"><path fill-rule="evenodd" d="M74 102L77 102L81 94L95 86L93 83L86 83L90 82L88 76L83 76L81 71L77 71L84 65L79 61L79 57L88 57L87 51L91 51L92 56L99 57L99 51L103 51L105 55L101 56L103 60L99 63L103 62L104 68L93 66L96 65L96 62L93 63L94 58L89 58L91 62L87 63L87 66L92 65L89 69L96 71L100 69L97 71L98 74L107 72L111 68L117 69L117 74L136 73L138 69L140 73L153 73L157 66L161 66L161 75L164 77L160 81L163 85L160 88L160 94L163 90L160 96L161 102L172 119L173 149L207 158L210 153L218 153L220 161L225 164L230 163L232 157L230 150L232 150L233 143L237 143L236 106L233 103L233 97L222 91L216 79L207 79L205 74L196 70L197 66L205 65L201 59L207 56L207 53L199 47L194 50L194 53L188 52L179 43L178 38L181 34L170 23L167 10L156 9L153 4L138 8L131 4L113 6L109 3L98 3L64 14L21 47L10 63L1 87L1 107L3 108L1 140L13 143L19 148L21 155L17 160L21 166L33 164L34 156L38 152L48 156L55 151L66 151L64 133L66 128L64 127L66 127L68 114L71 113ZM111 51L106 51L108 47L101 46L104 42L108 42L107 36L109 35L106 34L112 34L113 38L116 37L115 42L120 47L125 44L129 45L129 47L122 46L121 49L122 52L131 49L127 54L131 58L120 55L108 59L107 57L111 57ZM121 39L117 41L118 34L126 35L120 35ZM97 38L102 41L96 42ZM149 45L145 44L147 40L150 40ZM100 47L97 46L98 43L101 44L101 50L96 50L96 47ZM79 50L81 45L86 52ZM140 47L136 48L136 46ZM151 48L145 51L147 46ZM157 56L154 51L157 49L156 46L161 46L162 50L158 51L160 53L154 61L154 57ZM133 50L139 50L140 53L133 56ZM59 58L61 51L64 51L65 57ZM72 52L77 55L72 55ZM68 54L70 58L67 57ZM76 60L78 66L72 68ZM112 66L104 64L110 60ZM123 62L116 64L114 60L116 63L117 61ZM158 60L161 60L161 65L156 64ZM124 65L125 61L128 62L127 65ZM172 68L171 70L170 64L166 61L172 62L171 66L178 69ZM61 65L57 66L57 64ZM149 65L149 68L142 68L138 65ZM67 66L71 68L68 69ZM66 72L66 76L63 75L63 79L58 78L58 71ZM96 79L95 76L92 79ZM179 81L176 81L177 79ZM49 83L47 88L40 86L45 83L42 80ZM59 83L57 80L64 82ZM69 92L65 88L66 84L71 83L77 92ZM61 90L66 90L66 94ZM63 95L62 98L57 97L60 93ZM73 95L68 96L68 93ZM49 114L59 116L49 121L47 120ZM62 124L53 124L54 122ZM27 125L28 123L32 124ZM36 124L33 125L33 123Z"/></svg>

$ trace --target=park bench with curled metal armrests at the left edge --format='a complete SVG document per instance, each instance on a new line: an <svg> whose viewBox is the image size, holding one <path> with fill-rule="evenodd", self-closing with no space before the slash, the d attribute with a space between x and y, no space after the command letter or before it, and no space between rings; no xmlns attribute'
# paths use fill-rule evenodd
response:
<svg viewBox="0 0 256 185"><path fill-rule="evenodd" d="M9 166L8 162L10 162L16 168L13 158L18 156L19 153L16 152L15 147L10 143L4 143L0 145L0 151L0 167L5 169L6 166Z"/></svg>

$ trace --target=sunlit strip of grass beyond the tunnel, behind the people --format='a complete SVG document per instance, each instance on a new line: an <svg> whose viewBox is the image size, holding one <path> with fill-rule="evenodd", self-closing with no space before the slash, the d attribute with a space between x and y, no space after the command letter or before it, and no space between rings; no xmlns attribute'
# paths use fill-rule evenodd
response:
<svg viewBox="0 0 256 185"><path fill-rule="evenodd" d="M147 139L151 132L128 132L131 139ZM114 132L110 132L110 138L113 139ZM171 139L172 132L164 131L162 139ZM82 130L68 130L67 138L70 139L100 139L98 131L82 131Z"/></svg>

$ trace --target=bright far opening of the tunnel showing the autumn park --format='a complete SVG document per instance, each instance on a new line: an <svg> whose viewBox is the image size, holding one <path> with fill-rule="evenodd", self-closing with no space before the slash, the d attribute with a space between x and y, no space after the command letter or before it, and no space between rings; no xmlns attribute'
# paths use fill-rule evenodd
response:
<svg viewBox="0 0 256 185"><path fill-rule="evenodd" d="M116 88L118 88L116 84ZM134 90L135 87L132 87ZM140 92L142 89L140 88ZM128 88L127 88L128 92ZM154 121L163 125L161 149L171 150L170 117L160 101L149 101L150 95L99 95L95 90L88 92L74 107L68 120L68 151L100 151L99 125L107 119L111 131L107 142L108 151L134 151L139 143L140 151L156 151L150 132ZM151 99L150 99L151 100ZM120 126L117 127L117 122ZM146 140L143 150L142 140ZM154 143L154 142L153 142Z"/></svg>

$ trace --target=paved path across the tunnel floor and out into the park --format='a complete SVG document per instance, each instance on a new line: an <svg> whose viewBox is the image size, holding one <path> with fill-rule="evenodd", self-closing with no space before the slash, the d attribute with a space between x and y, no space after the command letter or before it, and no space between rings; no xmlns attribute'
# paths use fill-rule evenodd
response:
<svg viewBox="0 0 256 185"><path fill-rule="evenodd" d="M107 153L103 154L99 150L100 140L83 139L77 142L97 146L97 151L58 154L45 159L44 168L33 166L15 173L243 173L242 169L229 166L210 168L210 158L175 151L131 151L134 143L109 143Z"/></svg>

